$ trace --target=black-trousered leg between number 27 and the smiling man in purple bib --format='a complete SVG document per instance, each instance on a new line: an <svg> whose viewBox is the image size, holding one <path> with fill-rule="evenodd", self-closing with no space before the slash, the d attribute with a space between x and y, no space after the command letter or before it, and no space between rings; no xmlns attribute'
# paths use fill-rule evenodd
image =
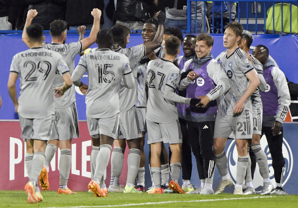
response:
<svg viewBox="0 0 298 208"><path fill-rule="evenodd" d="M182 133L182 189L186 192L195 190L190 182L192 175L192 148L187 137L187 123L184 119L178 119Z"/></svg>

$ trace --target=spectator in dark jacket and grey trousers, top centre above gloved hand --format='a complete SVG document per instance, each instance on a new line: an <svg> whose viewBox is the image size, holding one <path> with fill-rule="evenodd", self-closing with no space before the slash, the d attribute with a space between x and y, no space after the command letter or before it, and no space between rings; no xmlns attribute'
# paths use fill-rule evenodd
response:
<svg viewBox="0 0 298 208"><path fill-rule="evenodd" d="M121 24L129 30L142 30L147 19L155 15L154 0L118 0L114 14L115 24Z"/></svg>

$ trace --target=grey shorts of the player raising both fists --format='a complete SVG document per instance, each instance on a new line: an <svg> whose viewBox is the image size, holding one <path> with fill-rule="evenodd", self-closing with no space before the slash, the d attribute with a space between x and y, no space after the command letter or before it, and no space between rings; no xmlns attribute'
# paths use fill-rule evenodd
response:
<svg viewBox="0 0 298 208"><path fill-rule="evenodd" d="M67 108L55 108L56 136L59 140L69 140L79 137L78 112L75 102ZM53 140L51 138L50 140Z"/></svg>

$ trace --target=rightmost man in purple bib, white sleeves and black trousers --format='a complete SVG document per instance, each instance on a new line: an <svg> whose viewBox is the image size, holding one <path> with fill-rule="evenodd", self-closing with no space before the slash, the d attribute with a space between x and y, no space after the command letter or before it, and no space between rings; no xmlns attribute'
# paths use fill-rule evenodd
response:
<svg viewBox="0 0 298 208"><path fill-rule="evenodd" d="M262 135L266 135L276 182L276 188L271 193L283 195L287 192L282 188L285 171L282 122L287 117L291 103L290 92L284 73L269 59L268 48L258 45L252 54L263 64L263 76L267 82L266 91L260 92L260 95L263 103Z"/></svg>

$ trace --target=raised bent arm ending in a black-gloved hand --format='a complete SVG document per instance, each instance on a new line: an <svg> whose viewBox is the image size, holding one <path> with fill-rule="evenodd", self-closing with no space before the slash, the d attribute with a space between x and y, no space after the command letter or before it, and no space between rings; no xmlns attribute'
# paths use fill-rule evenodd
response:
<svg viewBox="0 0 298 208"><path fill-rule="evenodd" d="M158 18L159 25L158 25L155 37L151 42L147 42L144 44L144 46L146 47L146 55L149 55L156 48L160 47L164 37L165 13L162 11L159 11L157 18Z"/></svg>

